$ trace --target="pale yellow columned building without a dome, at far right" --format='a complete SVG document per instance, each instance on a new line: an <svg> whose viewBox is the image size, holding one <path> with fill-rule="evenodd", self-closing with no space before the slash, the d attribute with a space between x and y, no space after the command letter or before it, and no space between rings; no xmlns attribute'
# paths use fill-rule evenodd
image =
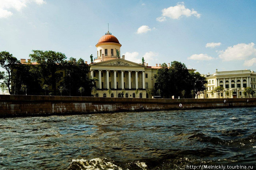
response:
<svg viewBox="0 0 256 170"><path fill-rule="evenodd" d="M218 98L218 93L212 94L212 90L217 86L224 88L224 91L220 93L221 98L249 97L248 94L243 93L246 87L252 87L256 92L256 73L253 70L218 72L218 69L216 69L214 74L210 75L208 73L204 76L208 83L205 85L206 93L200 94L200 98ZM253 97L256 97L256 94Z"/></svg>

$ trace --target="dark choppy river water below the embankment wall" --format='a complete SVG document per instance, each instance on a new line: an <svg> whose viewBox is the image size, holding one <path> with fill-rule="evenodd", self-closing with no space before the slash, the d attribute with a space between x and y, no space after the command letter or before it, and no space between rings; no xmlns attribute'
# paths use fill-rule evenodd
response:
<svg viewBox="0 0 256 170"><path fill-rule="evenodd" d="M0 119L0 169L254 165L256 108Z"/></svg>

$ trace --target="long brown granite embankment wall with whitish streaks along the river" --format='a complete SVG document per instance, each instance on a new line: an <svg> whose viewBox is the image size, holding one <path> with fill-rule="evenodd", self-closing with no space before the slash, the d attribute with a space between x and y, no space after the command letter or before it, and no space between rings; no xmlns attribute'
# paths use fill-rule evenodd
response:
<svg viewBox="0 0 256 170"><path fill-rule="evenodd" d="M0 95L0 117L222 107L256 107L256 98L153 99Z"/></svg>

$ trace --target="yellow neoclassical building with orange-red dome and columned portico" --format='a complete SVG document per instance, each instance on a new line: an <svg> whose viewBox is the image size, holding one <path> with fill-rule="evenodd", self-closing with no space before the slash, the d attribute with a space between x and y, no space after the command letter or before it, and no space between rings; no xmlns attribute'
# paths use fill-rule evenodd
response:
<svg viewBox="0 0 256 170"><path fill-rule="evenodd" d="M154 91L154 74L159 66L148 66L147 63L135 63L120 57L118 39L109 31L98 43L97 57L89 64L90 78L96 78L96 97L151 98ZM110 90L109 90L110 89ZM136 90L138 89L138 90Z"/></svg>

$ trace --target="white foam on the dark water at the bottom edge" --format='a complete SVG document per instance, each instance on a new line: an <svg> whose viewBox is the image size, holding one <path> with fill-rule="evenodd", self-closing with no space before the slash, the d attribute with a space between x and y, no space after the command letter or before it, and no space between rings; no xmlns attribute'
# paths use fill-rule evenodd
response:
<svg viewBox="0 0 256 170"><path fill-rule="evenodd" d="M94 158L90 160L86 159L73 159L69 167L79 166L81 170L122 170L121 167L114 164L107 158Z"/></svg>

